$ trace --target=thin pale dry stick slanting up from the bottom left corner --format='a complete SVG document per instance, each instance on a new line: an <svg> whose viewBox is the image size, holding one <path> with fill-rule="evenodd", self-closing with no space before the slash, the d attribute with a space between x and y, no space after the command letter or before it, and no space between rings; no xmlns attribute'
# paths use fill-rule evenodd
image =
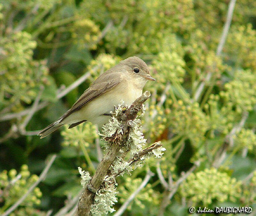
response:
<svg viewBox="0 0 256 216"><path fill-rule="evenodd" d="M34 184L32 184L30 186L30 188L28 189L28 191L16 202L14 203L10 208L8 208L3 214L2 216L7 216L9 215L11 212L13 212L19 205L20 203L22 203L24 201L24 199L28 196L28 194L44 179L44 177L46 176L48 170L50 169L50 167L52 166L53 161L55 160L56 155L52 155L51 160L47 163L46 167L44 168L44 170L41 172L39 178L36 180L36 182Z"/></svg>

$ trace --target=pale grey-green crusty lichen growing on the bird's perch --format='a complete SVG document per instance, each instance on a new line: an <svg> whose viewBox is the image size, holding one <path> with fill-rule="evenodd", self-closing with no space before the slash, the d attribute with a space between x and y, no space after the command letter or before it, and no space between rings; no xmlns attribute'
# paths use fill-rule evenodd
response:
<svg viewBox="0 0 256 216"><path fill-rule="evenodd" d="M115 112L111 112L112 117L109 122L102 127L102 133L100 133L100 135L102 136L102 140L105 140L106 150L108 150L111 145L111 140L108 141L110 137L120 136L122 138L122 135L124 135L123 133L125 133L122 128L122 115L125 110L127 110L127 105L121 100L120 104L116 107ZM135 119L127 122L129 134L127 135L127 139L122 143L122 147L116 155L114 162L112 162L108 170L108 175L104 178L100 189L95 193L94 202L90 209L90 215L107 215L108 212L115 211L112 206L117 202L116 176L123 175L125 172L130 173L136 167L141 166L145 159L150 156L155 155L155 157L158 158L163 155L162 151L164 151L165 148L162 147L147 151L143 155L139 155L140 152L144 151L142 150L142 146L146 144L146 139L141 132L141 121L139 119L144 114L145 110L145 106L142 105L141 113L137 115ZM120 143L116 143L115 145L119 144ZM124 161L124 156L129 150L130 159ZM81 184L84 187L91 178L88 172L82 171L80 167L78 169L82 177Z"/></svg>

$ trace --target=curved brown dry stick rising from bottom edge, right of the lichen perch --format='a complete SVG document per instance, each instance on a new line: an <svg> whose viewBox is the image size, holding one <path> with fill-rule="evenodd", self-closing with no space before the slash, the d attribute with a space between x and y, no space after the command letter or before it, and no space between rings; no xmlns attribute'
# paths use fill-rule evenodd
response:
<svg viewBox="0 0 256 216"><path fill-rule="evenodd" d="M169 204L169 200L176 193L176 191L178 190L180 184L196 169L196 167L198 167L200 165L200 163L201 163L200 161L196 161L194 163L194 165L185 174L180 176L180 178L175 182L174 185L170 185L169 192L166 193L166 196L163 198L162 204L160 206L159 216L164 215L164 210L167 207L167 205Z"/></svg>

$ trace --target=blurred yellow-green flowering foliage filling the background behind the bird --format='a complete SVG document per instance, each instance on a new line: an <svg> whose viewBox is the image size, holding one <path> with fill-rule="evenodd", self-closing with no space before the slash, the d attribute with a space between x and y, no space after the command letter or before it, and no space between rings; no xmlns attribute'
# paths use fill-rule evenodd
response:
<svg viewBox="0 0 256 216"><path fill-rule="evenodd" d="M52 154L57 158L46 178L12 215L53 215L77 196L77 167L93 174L102 156L97 127L63 127L42 140L37 130L67 111L102 72L132 55L146 61L157 80L145 87L152 96L143 133L148 144L161 140L167 150L117 178L115 208L137 189L148 167L155 176L124 215L180 216L202 205L254 210L256 1L236 1L218 54L228 4L0 0L0 212L28 190ZM63 93L81 76L82 84Z"/></svg>

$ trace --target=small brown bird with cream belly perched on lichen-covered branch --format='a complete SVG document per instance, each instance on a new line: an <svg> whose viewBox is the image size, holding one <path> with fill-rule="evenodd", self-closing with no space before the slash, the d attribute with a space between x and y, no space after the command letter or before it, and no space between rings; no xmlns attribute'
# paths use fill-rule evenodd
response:
<svg viewBox="0 0 256 216"><path fill-rule="evenodd" d="M143 60L132 56L120 61L94 80L65 114L38 135L44 138L62 125L70 124L68 128L72 128L85 121L102 126L121 99L129 106L140 97L148 80L156 81Z"/></svg>

